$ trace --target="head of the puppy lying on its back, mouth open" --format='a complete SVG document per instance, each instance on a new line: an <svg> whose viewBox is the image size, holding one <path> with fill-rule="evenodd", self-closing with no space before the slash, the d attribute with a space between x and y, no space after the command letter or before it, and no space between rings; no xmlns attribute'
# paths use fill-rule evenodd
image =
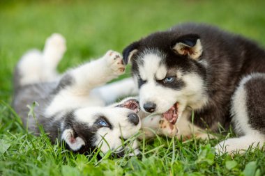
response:
<svg viewBox="0 0 265 176"><path fill-rule="evenodd" d="M121 107L92 107L69 113L62 126L61 140L75 152L90 152L96 147L123 152L123 142L137 134L141 122L135 111ZM137 147L132 141L132 149Z"/></svg>

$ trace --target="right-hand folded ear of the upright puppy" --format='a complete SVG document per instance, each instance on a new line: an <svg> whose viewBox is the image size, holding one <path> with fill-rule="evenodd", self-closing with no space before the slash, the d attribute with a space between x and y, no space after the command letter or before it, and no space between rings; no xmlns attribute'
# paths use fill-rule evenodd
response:
<svg viewBox="0 0 265 176"><path fill-rule="evenodd" d="M178 54L197 60L202 56L202 43L197 34L183 35L174 41L173 49Z"/></svg>

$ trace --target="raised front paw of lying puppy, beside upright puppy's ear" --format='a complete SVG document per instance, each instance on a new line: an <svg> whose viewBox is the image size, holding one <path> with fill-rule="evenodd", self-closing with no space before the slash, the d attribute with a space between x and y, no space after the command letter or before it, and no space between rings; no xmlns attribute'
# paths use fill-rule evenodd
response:
<svg viewBox="0 0 265 176"><path fill-rule="evenodd" d="M121 54L117 51L109 50L105 54L108 67L112 70L115 75L121 75L125 72L125 67Z"/></svg>

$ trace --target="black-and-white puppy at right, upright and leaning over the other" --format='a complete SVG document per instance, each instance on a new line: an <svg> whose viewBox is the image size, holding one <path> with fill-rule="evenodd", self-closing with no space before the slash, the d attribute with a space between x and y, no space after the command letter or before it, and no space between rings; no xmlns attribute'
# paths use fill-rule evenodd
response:
<svg viewBox="0 0 265 176"><path fill-rule="evenodd" d="M123 59L132 63L141 109L178 127L178 136L194 131L205 138L204 129L217 131L232 121L240 137L217 149L264 145L265 51L255 42L212 26L182 24L133 42Z"/></svg>

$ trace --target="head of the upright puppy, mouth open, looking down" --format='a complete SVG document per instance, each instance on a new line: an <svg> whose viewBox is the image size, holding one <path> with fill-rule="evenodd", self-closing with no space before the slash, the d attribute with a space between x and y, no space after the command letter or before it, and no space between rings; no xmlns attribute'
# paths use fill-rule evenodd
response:
<svg viewBox="0 0 265 176"><path fill-rule="evenodd" d="M187 106L206 102L206 67L202 40L196 33L153 33L123 50L138 83L139 104L147 113L162 113L172 123Z"/></svg>

